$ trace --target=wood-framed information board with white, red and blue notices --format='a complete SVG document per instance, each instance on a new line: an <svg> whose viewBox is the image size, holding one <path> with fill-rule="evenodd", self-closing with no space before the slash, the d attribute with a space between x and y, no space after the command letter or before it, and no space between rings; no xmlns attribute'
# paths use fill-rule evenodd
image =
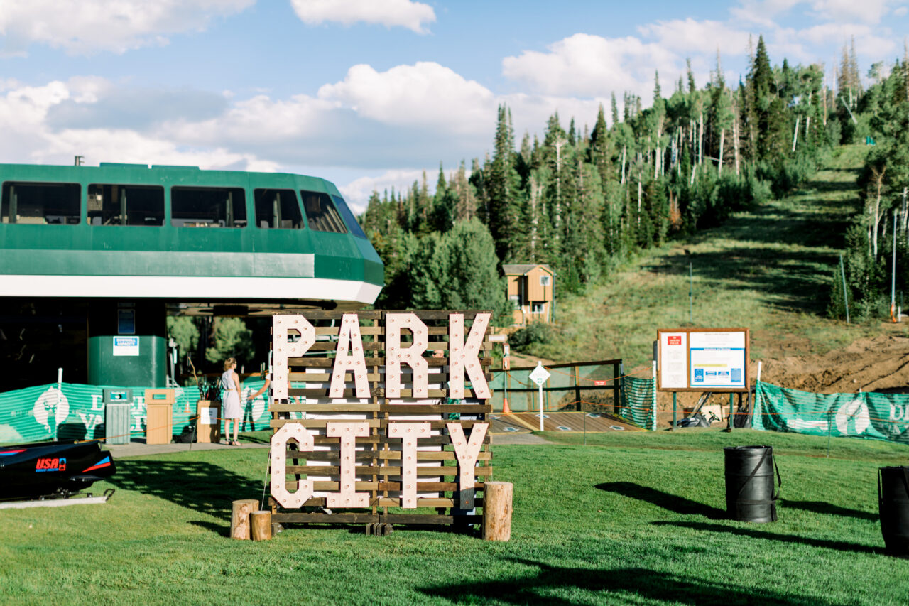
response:
<svg viewBox="0 0 909 606"><path fill-rule="evenodd" d="M657 389L747 391L748 328L660 328Z"/></svg>

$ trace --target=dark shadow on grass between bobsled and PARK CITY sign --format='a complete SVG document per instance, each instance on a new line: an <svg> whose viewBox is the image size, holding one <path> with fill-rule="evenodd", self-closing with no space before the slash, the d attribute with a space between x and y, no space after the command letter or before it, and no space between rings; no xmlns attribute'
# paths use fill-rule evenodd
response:
<svg viewBox="0 0 909 606"><path fill-rule="evenodd" d="M260 482L202 461L118 460L108 481L221 520L230 520L237 495L262 494Z"/></svg>

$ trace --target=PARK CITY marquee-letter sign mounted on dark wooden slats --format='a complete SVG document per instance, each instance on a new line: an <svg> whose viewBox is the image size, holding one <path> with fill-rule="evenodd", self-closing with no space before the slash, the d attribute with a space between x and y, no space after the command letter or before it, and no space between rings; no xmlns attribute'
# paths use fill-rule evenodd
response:
<svg viewBox="0 0 909 606"><path fill-rule="evenodd" d="M493 471L491 317L475 310L275 316L272 519L373 529L480 523Z"/></svg>

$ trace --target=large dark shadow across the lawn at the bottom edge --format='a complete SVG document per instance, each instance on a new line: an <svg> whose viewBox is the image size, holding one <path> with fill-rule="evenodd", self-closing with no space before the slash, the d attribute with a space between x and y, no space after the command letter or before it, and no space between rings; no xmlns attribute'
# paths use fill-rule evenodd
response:
<svg viewBox="0 0 909 606"><path fill-rule="evenodd" d="M550 566L538 561L514 560L539 569L536 574L500 581L427 585L417 588L428 596L459 603L488 601L510 604L577 604L578 590L595 592L591 601L609 601L611 593L632 594L648 601L679 604L831 604L815 596L805 597L780 591L742 588L733 582L694 579L645 568L578 569ZM572 597L557 597L554 591L567 590ZM603 595L606 594L606 595ZM613 596L615 600L628 598ZM636 600L634 600L636 601Z"/></svg>

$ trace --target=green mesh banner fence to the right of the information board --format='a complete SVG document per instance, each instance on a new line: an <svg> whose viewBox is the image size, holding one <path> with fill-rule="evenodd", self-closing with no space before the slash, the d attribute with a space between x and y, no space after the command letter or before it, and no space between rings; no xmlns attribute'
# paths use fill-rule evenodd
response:
<svg viewBox="0 0 909 606"><path fill-rule="evenodd" d="M873 392L819 394L757 382L754 429L852 436L909 444L909 396Z"/></svg>

